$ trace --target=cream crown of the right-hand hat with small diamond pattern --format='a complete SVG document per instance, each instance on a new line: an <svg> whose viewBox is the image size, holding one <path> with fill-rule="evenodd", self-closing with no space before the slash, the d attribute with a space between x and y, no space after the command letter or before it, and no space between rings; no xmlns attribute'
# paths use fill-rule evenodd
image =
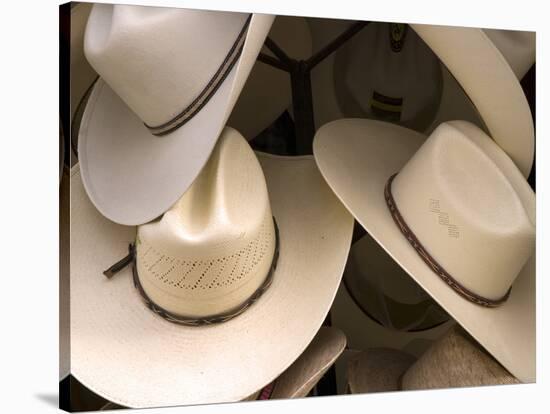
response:
<svg viewBox="0 0 550 414"><path fill-rule="evenodd" d="M412 232L460 284L500 299L535 246L535 196L476 126L440 125L396 176L392 193Z"/></svg>

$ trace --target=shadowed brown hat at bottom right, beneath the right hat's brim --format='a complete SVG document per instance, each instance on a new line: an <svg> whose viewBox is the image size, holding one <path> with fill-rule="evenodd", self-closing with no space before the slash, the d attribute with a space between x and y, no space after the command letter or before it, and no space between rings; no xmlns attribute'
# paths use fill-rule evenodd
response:
<svg viewBox="0 0 550 414"><path fill-rule="evenodd" d="M458 326L418 360L404 352L377 348L360 353L348 366L352 394L517 383Z"/></svg>

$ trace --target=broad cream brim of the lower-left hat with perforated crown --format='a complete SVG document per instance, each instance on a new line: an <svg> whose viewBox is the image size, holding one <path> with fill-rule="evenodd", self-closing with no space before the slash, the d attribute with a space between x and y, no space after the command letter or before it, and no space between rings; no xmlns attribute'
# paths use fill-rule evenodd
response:
<svg viewBox="0 0 550 414"><path fill-rule="evenodd" d="M202 327L151 312L129 268L102 275L136 228L105 219L71 171L71 372L96 394L127 407L239 401L311 342L340 283L353 219L311 156L258 158L279 227L273 282L243 314Z"/></svg>

